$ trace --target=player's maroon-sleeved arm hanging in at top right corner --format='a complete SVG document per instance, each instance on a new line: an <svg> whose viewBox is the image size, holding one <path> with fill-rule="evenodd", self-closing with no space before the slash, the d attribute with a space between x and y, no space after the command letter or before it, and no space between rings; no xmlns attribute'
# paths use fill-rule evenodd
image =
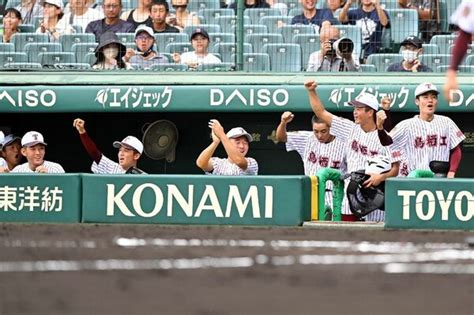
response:
<svg viewBox="0 0 474 315"><path fill-rule="evenodd" d="M446 72L446 83L444 84L444 96L448 102L452 101L451 90L458 89L457 70L466 55L468 45L474 36L474 1L464 0L451 17L452 24L459 27L459 34L454 42L451 64Z"/></svg>

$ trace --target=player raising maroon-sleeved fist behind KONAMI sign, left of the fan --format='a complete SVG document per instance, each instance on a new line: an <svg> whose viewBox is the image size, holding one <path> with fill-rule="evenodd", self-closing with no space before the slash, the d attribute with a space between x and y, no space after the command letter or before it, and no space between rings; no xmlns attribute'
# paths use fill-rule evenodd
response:
<svg viewBox="0 0 474 315"><path fill-rule="evenodd" d="M134 136L127 136L122 141L115 141L113 146L119 149L118 163L107 158L99 151L94 141L89 137L84 120L77 118L73 126L79 132L82 144L92 158L91 170L95 174L124 174L136 169L138 160L143 153L143 144ZM140 172L143 173L143 172Z"/></svg>

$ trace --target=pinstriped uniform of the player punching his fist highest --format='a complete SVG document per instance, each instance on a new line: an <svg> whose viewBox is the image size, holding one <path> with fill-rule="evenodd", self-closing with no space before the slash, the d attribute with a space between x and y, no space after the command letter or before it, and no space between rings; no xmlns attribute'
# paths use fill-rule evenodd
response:
<svg viewBox="0 0 474 315"><path fill-rule="evenodd" d="M380 143L377 130L365 132L360 125L353 121L337 116L332 116L331 133L345 142L347 172L351 173L365 168L368 158L383 155L390 159L391 163L399 162L401 157L395 153L391 146L384 147ZM349 179L345 182L345 188ZM342 202L342 213L352 214L347 196ZM366 221L384 221L385 211L375 210L364 217Z"/></svg>

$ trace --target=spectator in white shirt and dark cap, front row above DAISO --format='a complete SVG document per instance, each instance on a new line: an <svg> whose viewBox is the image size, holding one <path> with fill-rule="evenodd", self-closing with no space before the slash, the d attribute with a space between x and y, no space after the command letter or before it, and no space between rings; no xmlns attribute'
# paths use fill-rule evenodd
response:
<svg viewBox="0 0 474 315"><path fill-rule="evenodd" d="M186 64L190 69L196 69L200 64L221 63L219 58L208 52L209 42L209 34L206 30L196 28L191 35L194 51L185 52L182 55L173 54L174 62Z"/></svg>

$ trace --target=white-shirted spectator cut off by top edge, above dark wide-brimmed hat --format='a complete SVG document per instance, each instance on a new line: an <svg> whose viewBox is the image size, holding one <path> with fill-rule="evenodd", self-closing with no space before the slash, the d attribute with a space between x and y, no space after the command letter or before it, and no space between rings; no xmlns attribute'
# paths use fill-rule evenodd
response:
<svg viewBox="0 0 474 315"><path fill-rule="evenodd" d="M80 26L83 32L90 22L104 17L97 9L88 7L86 0L69 0L69 6L71 11L64 14L56 26L56 30L61 35L76 33L74 26Z"/></svg>

